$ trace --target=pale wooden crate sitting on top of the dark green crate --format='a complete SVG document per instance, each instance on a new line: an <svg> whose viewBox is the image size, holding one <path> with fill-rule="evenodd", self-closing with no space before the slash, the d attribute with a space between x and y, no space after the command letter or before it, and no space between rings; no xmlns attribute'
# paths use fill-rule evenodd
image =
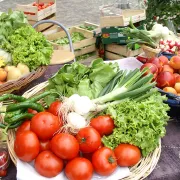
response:
<svg viewBox="0 0 180 180"><path fill-rule="evenodd" d="M100 17L100 27L128 26L131 17L133 23L140 22L146 19L146 11L126 9L122 10L122 15L102 16Z"/></svg>

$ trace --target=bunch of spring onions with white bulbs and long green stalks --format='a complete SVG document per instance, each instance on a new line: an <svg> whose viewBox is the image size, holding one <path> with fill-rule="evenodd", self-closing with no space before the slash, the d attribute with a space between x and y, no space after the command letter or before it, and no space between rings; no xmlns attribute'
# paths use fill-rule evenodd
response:
<svg viewBox="0 0 180 180"><path fill-rule="evenodd" d="M97 99L90 100L87 96L78 94L63 98L59 114L65 129L76 133L80 128L88 126L90 119L108 106L119 104L127 98L138 101L150 96L154 93L151 89L155 83L152 82L152 74L143 76L146 71L146 68L143 71L119 71Z"/></svg>

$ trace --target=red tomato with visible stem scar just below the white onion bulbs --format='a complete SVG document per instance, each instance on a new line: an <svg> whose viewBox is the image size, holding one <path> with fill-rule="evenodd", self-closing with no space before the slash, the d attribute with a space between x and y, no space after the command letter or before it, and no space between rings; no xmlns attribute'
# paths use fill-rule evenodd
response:
<svg viewBox="0 0 180 180"><path fill-rule="evenodd" d="M92 127L80 129L76 138L79 142L80 151L83 153L91 153L96 151L101 145L100 134Z"/></svg>

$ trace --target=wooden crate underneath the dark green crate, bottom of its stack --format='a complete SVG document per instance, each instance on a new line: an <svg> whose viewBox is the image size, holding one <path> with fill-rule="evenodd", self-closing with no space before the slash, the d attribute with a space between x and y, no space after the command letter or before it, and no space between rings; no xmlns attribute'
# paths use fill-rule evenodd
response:
<svg viewBox="0 0 180 180"><path fill-rule="evenodd" d="M105 46L105 50L122 57L134 57L143 52L141 48L136 50L130 50L127 48L127 46L122 46L117 44L108 44Z"/></svg>

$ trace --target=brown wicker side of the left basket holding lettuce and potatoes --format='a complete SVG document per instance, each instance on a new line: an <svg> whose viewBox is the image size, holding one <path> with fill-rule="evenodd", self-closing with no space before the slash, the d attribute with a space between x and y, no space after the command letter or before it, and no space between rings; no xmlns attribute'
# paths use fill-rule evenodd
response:
<svg viewBox="0 0 180 180"><path fill-rule="evenodd" d="M46 69L47 69L47 66L41 66L36 71L31 72L29 75L25 77L22 77L16 81L6 82L0 85L0 95L5 94L5 93L11 93L15 90L21 89L22 87L26 86L31 81L42 76L44 72L46 71Z"/></svg>

